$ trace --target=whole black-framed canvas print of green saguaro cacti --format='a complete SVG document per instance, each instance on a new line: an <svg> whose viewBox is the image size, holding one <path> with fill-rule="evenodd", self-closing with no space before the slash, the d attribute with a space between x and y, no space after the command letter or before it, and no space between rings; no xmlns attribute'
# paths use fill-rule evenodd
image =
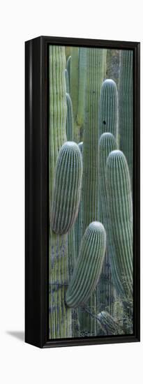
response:
<svg viewBox="0 0 143 384"><path fill-rule="evenodd" d="M140 341L140 43L25 44L25 341Z"/></svg>

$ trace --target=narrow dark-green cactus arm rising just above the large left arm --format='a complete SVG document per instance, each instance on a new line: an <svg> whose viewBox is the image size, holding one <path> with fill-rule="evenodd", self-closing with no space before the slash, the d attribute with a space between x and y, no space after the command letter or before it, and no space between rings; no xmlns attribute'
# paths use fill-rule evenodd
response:
<svg viewBox="0 0 143 384"><path fill-rule="evenodd" d="M70 95L67 93L66 93L66 105L67 105L66 136L67 136L67 140L73 141L73 105L72 105Z"/></svg>

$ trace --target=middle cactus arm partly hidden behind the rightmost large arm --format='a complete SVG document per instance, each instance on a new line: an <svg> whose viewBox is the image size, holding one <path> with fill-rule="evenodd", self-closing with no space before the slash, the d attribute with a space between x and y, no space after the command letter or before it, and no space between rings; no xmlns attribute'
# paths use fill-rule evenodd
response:
<svg viewBox="0 0 143 384"><path fill-rule="evenodd" d="M105 168L107 157L110 152L116 149L116 140L112 133L103 133L98 143L98 219L107 230L107 189L105 183ZM108 243L107 238L107 243ZM103 270L96 288L96 307L97 311L107 310L110 314L114 313L114 285L112 281L110 255L111 247L107 244ZM97 328L99 328L97 326Z"/></svg>

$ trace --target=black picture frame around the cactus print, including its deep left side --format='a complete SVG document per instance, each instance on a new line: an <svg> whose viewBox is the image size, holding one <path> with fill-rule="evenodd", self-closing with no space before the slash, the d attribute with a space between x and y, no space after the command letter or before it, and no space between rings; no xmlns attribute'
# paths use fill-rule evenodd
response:
<svg viewBox="0 0 143 384"><path fill-rule="evenodd" d="M47 339L48 45L133 50L134 332L114 337ZM140 43L40 36L25 43L25 341L40 348L140 341Z"/></svg>

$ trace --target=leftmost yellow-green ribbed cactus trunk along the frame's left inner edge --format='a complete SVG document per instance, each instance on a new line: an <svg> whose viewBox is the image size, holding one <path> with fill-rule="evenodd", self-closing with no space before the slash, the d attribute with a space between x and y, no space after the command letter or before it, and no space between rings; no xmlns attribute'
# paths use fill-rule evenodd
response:
<svg viewBox="0 0 143 384"><path fill-rule="evenodd" d="M59 149L66 141L66 65L65 49L50 46L50 209L54 186L55 165ZM55 73L57 74L55 76ZM50 212L51 213L51 212ZM65 305L68 276L68 236L50 230L49 258L49 338L72 337L72 311Z"/></svg>

